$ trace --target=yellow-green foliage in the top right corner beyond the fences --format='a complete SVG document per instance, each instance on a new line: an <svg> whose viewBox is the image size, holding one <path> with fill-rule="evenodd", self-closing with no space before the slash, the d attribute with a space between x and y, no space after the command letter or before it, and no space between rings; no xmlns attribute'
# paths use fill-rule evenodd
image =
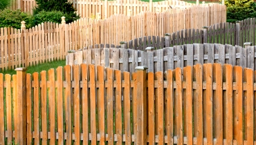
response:
<svg viewBox="0 0 256 145"><path fill-rule="evenodd" d="M226 0L227 21L234 23L256 16L256 4L253 0Z"/></svg>

